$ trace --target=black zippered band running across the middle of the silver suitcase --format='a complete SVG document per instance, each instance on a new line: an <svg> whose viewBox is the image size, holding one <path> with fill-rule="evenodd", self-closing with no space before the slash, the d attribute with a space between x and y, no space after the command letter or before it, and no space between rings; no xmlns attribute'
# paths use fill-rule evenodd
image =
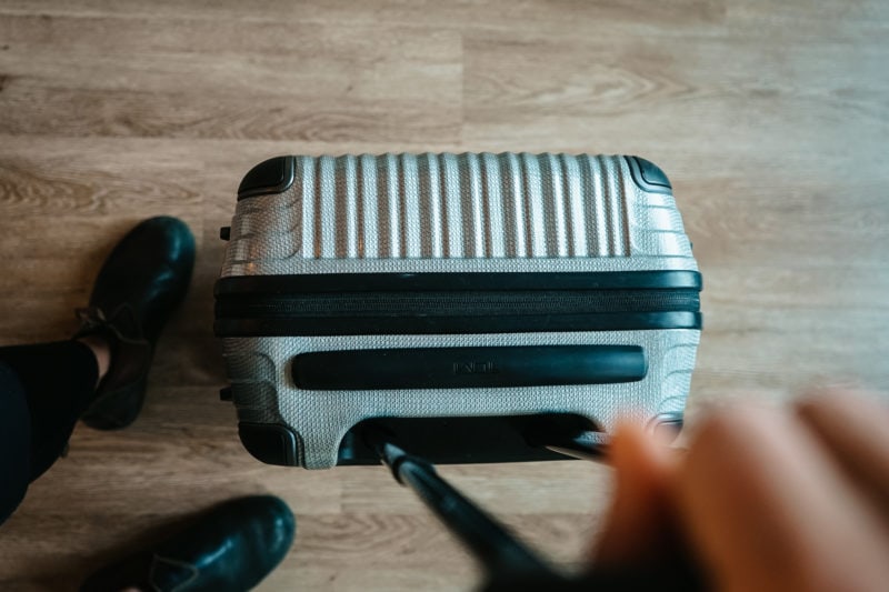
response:
<svg viewBox="0 0 889 592"><path fill-rule="evenodd" d="M700 274L420 273L227 278L217 337L700 329Z"/></svg>

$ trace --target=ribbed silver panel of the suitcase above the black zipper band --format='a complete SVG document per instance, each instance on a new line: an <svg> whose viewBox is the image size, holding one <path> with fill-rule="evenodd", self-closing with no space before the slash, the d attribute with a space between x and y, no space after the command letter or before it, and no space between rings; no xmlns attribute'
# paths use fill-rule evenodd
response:
<svg viewBox="0 0 889 592"><path fill-rule="evenodd" d="M297 157L290 190L239 204L231 259L629 257L636 188L623 167L568 154ZM669 230L681 234L678 223Z"/></svg>

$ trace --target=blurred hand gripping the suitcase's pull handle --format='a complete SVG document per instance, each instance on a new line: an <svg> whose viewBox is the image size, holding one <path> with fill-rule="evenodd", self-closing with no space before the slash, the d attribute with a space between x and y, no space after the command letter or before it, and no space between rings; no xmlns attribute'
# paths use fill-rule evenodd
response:
<svg viewBox="0 0 889 592"><path fill-rule="evenodd" d="M687 453L622 425L601 566L691 561L728 591L889 589L889 410L830 391L709 413Z"/></svg>

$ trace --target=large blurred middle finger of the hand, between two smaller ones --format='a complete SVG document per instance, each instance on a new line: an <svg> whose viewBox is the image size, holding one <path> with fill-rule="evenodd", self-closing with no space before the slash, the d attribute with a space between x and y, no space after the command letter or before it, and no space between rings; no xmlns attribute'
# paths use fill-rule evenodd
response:
<svg viewBox="0 0 889 592"><path fill-rule="evenodd" d="M889 535L792 413L722 410L676 471L688 535L729 590L879 590Z"/></svg>

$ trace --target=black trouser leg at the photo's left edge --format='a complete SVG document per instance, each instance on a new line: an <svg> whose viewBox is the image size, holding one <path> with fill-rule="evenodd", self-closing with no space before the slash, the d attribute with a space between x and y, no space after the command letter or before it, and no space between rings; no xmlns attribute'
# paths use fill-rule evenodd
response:
<svg viewBox="0 0 889 592"><path fill-rule="evenodd" d="M98 378L79 341L0 348L0 523L62 453Z"/></svg>

